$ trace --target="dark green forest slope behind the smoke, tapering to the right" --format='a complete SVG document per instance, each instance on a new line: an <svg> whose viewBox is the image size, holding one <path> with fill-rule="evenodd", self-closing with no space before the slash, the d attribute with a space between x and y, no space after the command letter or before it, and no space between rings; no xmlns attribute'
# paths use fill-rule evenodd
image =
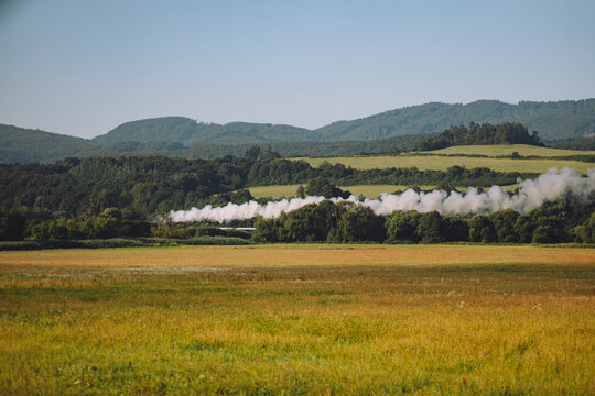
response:
<svg viewBox="0 0 595 396"><path fill-rule="evenodd" d="M149 219L172 209L209 204L216 199L215 195L230 194L250 186L305 183L316 177L345 186L484 187L513 184L518 177L534 176L458 166L446 172L416 168L359 170L328 163L314 168L306 162L275 156L278 154L273 151L255 146L247 151L246 156L216 160L133 156L66 158L53 164L1 164L0 206L48 211L54 216L98 215L107 208L117 207L136 212L141 219ZM229 197L230 200L232 198Z"/></svg>

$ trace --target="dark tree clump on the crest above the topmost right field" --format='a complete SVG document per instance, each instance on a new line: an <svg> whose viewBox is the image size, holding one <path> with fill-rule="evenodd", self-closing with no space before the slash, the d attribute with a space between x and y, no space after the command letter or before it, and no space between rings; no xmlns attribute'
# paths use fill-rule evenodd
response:
<svg viewBox="0 0 595 396"><path fill-rule="evenodd" d="M543 142L537 131L529 134L527 127L517 122L502 122L497 125L472 122L468 128L451 127L435 136L423 139L415 143L413 150L430 151L473 144L543 145Z"/></svg>

